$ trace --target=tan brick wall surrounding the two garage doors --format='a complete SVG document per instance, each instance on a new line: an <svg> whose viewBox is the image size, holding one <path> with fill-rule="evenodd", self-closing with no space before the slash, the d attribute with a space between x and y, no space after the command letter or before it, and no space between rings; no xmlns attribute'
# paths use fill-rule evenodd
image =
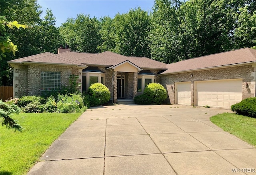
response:
<svg viewBox="0 0 256 175"><path fill-rule="evenodd" d="M242 99L255 96L255 80L252 76L254 72L254 67L252 65L220 68L220 69L210 69L204 71L191 71L186 73L176 73L171 75L160 76L160 83L168 91L168 102L174 104L175 99L175 83L176 82L191 82L191 105L194 103L194 81L204 81L204 80L221 80L221 79L239 79L242 78ZM191 77L191 74L193 75ZM248 88L246 88L246 82L248 83ZM172 88L173 87L173 88Z"/></svg>

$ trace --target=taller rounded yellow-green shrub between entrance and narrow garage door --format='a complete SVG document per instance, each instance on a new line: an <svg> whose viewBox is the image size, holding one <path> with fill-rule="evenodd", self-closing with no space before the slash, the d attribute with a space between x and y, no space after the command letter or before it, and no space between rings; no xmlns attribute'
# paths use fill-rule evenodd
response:
<svg viewBox="0 0 256 175"><path fill-rule="evenodd" d="M152 103L155 104L161 104L167 98L166 89L159 83L150 83L143 94L152 98Z"/></svg>

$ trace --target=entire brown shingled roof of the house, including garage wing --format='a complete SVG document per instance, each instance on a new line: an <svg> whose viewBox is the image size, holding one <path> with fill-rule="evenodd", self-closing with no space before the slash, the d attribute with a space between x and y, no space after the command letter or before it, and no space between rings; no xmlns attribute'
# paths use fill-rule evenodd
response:
<svg viewBox="0 0 256 175"><path fill-rule="evenodd" d="M59 54L40 53L29 57L14 59L8 63L44 63L59 65L86 66L104 66L111 67L124 61L130 61L142 69L158 69L160 75L180 73L186 71L196 71L201 69L213 69L229 65L239 65L244 63L256 63L256 50L250 48L237 49L222 53L216 53L203 57L197 57L177 63L165 64L146 57L130 57L105 51L102 53L82 53L66 51Z"/></svg>

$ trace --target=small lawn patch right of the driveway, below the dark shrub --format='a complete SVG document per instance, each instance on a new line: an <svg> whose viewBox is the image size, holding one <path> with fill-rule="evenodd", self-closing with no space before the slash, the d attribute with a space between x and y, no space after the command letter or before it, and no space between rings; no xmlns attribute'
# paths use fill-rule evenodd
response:
<svg viewBox="0 0 256 175"><path fill-rule="evenodd" d="M210 118L211 122L256 147L256 118L223 113Z"/></svg>

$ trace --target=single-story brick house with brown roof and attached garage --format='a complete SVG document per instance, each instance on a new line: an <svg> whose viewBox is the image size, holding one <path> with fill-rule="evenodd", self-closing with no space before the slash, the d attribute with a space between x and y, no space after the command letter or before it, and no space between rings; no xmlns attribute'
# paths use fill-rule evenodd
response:
<svg viewBox="0 0 256 175"><path fill-rule="evenodd" d="M40 53L8 62L14 69L13 97L39 95L68 85L78 75L81 91L102 83L111 98L134 99L148 83L162 84L172 104L230 108L256 94L256 50L237 49L165 64L146 57L105 51L81 53L60 47L58 54Z"/></svg>

